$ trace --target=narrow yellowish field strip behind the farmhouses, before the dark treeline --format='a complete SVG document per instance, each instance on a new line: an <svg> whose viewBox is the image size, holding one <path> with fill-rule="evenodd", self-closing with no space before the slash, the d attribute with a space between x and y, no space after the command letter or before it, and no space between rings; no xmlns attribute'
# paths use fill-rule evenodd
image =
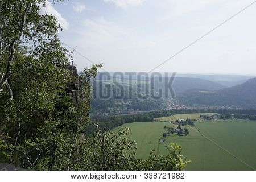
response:
<svg viewBox="0 0 256 182"><path fill-rule="evenodd" d="M196 119L199 121L203 121L202 118L200 118L200 115L206 114L206 115L213 115L214 113L196 113L196 114L175 114L167 117L161 117L161 118L155 118L155 120L160 121L176 121L177 119Z"/></svg>

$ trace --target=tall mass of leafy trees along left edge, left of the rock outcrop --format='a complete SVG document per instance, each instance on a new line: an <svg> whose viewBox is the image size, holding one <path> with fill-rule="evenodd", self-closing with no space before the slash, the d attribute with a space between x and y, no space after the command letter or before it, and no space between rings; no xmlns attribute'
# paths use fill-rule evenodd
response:
<svg viewBox="0 0 256 182"><path fill-rule="evenodd" d="M10 163L24 167L35 166L46 146L46 131L55 132L56 123L50 121L70 81L56 18L39 13L45 2L0 3L2 148Z"/></svg>

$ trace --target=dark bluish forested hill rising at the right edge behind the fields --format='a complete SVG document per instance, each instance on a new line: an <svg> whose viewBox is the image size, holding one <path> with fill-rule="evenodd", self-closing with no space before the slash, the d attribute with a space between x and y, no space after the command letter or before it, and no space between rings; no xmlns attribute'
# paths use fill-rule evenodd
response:
<svg viewBox="0 0 256 182"><path fill-rule="evenodd" d="M179 100L187 105L237 106L255 109L256 78L217 92L200 92L199 89L189 90L179 96Z"/></svg>

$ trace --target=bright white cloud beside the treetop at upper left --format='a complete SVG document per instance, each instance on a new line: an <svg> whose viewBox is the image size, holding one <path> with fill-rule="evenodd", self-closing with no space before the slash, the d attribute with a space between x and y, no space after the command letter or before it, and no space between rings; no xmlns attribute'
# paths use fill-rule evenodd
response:
<svg viewBox="0 0 256 182"><path fill-rule="evenodd" d="M51 5L49 1L46 1L45 6L43 6L42 4L39 4L39 7L40 7L40 13L42 14L47 13L55 16L55 18L57 19L57 22L60 24L60 27L65 30L68 30L68 27L69 27L68 21L65 18L63 18L57 10L55 10L55 8Z"/></svg>

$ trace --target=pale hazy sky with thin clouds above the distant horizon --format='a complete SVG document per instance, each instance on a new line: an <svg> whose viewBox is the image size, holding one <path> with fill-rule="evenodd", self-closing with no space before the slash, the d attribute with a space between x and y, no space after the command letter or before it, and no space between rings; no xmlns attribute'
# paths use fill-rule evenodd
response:
<svg viewBox="0 0 256 182"><path fill-rule="evenodd" d="M48 1L79 70L256 75L256 3L171 60L254 0ZM65 47L67 47L64 44ZM83 55L83 56L81 56Z"/></svg>

